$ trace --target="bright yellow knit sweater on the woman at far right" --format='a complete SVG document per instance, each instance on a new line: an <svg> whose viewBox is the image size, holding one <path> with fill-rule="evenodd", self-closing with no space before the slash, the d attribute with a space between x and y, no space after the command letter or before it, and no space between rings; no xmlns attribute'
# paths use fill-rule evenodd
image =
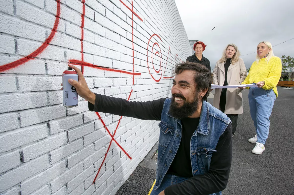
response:
<svg viewBox="0 0 294 195"><path fill-rule="evenodd" d="M245 78L242 84L258 83L264 81L265 84L262 87L265 90L273 89L278 97L277 84L282 73L282 62L279 57L273 56L267 63L265 58L261 58L259 62L253 62L250 67L248 76Z"/></svg>

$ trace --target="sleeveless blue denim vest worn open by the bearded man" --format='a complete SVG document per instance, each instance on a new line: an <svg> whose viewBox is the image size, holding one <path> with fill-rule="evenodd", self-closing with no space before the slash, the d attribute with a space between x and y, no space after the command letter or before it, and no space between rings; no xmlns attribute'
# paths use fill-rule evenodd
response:
<svg viewBox="0 0 294 195"><path fill-rule="evenodd" d="M161 122L158 124L160 133L154 189L158 189L167 173L179 148L182 136L181 120L171 117L169 113L170 104L171 98L167 98L164 101ZM211 156L216 152L218 139L230 122L227 115L206 101L202 102L199 124L191 137L190 143L193 176L208 172ZM209 188L209 186L207 187ZM214 193L214 195L220 194L221 192Z"/></svg>

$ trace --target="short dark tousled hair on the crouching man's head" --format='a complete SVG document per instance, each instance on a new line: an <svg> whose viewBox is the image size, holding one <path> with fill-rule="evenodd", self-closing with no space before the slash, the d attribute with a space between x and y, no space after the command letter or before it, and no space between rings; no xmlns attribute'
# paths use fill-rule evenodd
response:
<svg viewBox="0 0 294 195"><path fill-rule="evenodd" d="M203 99L207 99L211 90L211 84L213 81L212 73L208 68L199 63L183 62L176 65L174 74L180 74L184 70L195 71L194 81L196 83L196 89L203 91L208 89Z"/></svg>

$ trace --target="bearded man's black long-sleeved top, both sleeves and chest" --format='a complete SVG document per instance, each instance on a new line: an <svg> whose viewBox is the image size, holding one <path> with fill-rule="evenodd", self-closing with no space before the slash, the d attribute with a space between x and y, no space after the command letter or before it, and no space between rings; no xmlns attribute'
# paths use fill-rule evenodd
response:
<svg viewBox="0 0 294 195"><path fill-rule="evenodd" d="M114 98L109 96L104 96L96 94L95 104L88 102L88 107L90 111L95 112L105 112L110 114L116 114L119 116L133 117L144 120L161 120L161 112L163 109L163 103L165 98L146 101L146 102L136 102L136 101L126 101L121 98ZM177 162L182 162L181 165L173 166L173 172L181 173L192 173L191 166L183 166L183 163L191 165L191 159L188 157L187 153L190 153L190 145L187 147L187 142L190 143L191 132L196 130L197 118L187 118L183 119L183 130L182 139L179 147L180 150L184 150L186 158L182 158L176 153L176 156L172 162L177 165ZM199 119L198 119L199 121ZM187 133L186 133L187 132ZM182 142L184 140L184 142ZM189 141L185 141L189 140ZM187 151L188 150L188 151ZM178 159L178 158L182 159ZM187 162L188 161L188 162ZM196 175L178 183L176 185L169 186L165 189L165 195L186 195L186 194L213 194L215 192L222 191L225 189L232 162L232 126L228 125L227 129L220 136L218 143L216 145L216 152L213 153L211 157L211 164L208 173L203 175ZM169 170L170 171L170 170ZM188 173L189 174L189 173ZM191 176L191 175L190 175Z"/></svg>

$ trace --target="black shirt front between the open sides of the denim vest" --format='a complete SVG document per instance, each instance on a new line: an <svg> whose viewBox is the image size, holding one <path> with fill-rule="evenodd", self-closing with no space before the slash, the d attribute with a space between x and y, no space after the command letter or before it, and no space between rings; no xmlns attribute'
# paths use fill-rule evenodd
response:
<svg viewBox="0 0 294 195"><path fill-rule="evenodd" d="M183 118L181 122L183 125L182 138L176 156L168 169L168 174L181 177L193 177L190 143L191 137L198 127L199 117Z"/></svg>

